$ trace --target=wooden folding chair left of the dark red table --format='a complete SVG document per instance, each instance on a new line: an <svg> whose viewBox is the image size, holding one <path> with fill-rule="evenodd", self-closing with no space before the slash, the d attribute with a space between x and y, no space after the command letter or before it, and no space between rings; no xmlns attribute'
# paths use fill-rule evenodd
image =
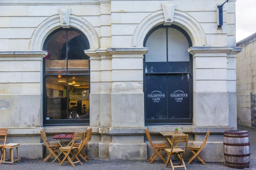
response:
<svg viewBox="0 0 256 170"><path fill-rule="evenodd" d="M47 149L50 151L50 154L43 160L43 162L46 162L51 156L54 156L55 158L57 155L57 150L60 148L60 144L58 143L50 143L46 137L44 129L40 131L41 137L43 139L44 145L47 147ZM57 160L60 162L60 159L57 158Z"/></svg>

